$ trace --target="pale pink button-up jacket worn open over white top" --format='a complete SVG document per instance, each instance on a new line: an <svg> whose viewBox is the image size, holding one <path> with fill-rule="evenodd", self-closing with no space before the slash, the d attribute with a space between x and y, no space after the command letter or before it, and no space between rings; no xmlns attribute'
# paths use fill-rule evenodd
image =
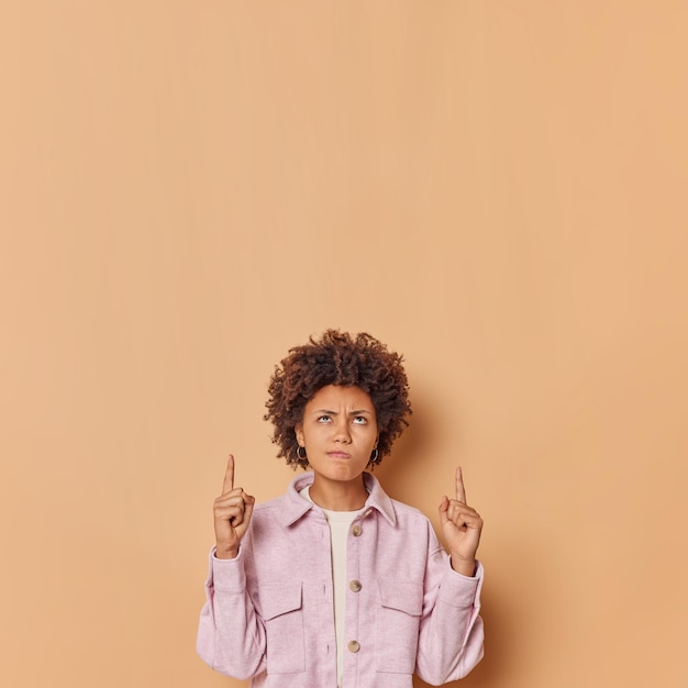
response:
<svg viewBox="0 0 688 688"><path fill-rule="evenodd" d="M370 474L366 509L347 548L343 688L439 686L482 657L479 593L454 572L430 521L390 499ZM330 529L298 491L256 506L234 559L211 553L197 650L212 668L254 688L336 688Z"/></svg>

